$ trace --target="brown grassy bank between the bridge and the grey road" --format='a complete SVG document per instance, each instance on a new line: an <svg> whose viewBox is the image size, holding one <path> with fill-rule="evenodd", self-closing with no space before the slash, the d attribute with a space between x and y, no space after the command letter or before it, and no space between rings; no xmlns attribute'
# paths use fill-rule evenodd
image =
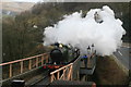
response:
<svg viewBox="0 0 131 87"><path fill-rule="evenodd" d="M96 64L97 85L128 85L129 76L110 57L98 57Z"/></svg>

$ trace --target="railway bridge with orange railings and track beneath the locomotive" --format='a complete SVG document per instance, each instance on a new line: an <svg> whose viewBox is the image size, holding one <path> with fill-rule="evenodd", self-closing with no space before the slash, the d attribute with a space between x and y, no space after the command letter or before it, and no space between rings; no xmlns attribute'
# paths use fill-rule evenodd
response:
<svg viewBox="0 0 131 87"><path fill-rule="evenodd" d="M2 78L1 85L5 87L20 83L24 86L51 86L51 85L87 85L96 87L91 80L96 66L96 55L88 58L87 66L80 55L76 60L53 72L44 70L43 66L49 62L49 53L43 53L35 57L1 63Z"/></svg>

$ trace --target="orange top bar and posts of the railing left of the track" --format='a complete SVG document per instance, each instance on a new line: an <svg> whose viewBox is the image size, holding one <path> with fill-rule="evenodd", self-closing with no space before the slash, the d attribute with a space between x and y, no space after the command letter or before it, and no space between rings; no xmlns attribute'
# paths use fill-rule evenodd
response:
<svg viewBox="0 0 131 87"><path fill-rule="evenodd" d="M48 62L48 58L49 58L48 53L43 53L43 54L34 55L34 57L31 57L31 58L25 58L25 59L21 59L21 60L16 60L16 61L1 63L0 66L3 67L3 66L9 65L9 76L8 76L8 78L11 78L11 77L15 76L15 74L14 74L15 72L13 71L13 64L14 63L20 63L19 66L17 66L17 70L20 70L19 74L22 74L22 73L25 73L24 70L29 71L29 70L32 70L34 67L38 67L39 64L40 64L40 66L43 66L44 63ZM33 59L35 59L35 61L33 61ZM28 63L25 64L27 66L24 66L24 61L28 61Z"/></svg>

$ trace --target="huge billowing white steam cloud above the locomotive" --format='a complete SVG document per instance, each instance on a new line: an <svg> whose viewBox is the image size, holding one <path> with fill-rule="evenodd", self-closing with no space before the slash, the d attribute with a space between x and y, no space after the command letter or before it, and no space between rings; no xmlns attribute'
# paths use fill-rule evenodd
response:
<svg viewBox="0 0 131 87"><path fill-rule="evenodd" d="M96 12L103 23L95 21L94 14ZM64 15L64 20L59 21L53 27L46 27L44 45L70 44L78 47L82 53L86 53L86 48L94 44L98 54L109 55L121 46L121 38L124 34L122 22L115 18L115 13L109 7L104 5L103 9L90 10L85 17L82 17L82 11L75 12Z"/></svg>

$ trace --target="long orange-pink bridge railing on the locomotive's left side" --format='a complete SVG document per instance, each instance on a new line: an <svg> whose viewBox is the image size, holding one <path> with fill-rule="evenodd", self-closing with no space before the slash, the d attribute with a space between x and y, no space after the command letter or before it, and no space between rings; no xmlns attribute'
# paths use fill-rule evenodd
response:
<svg viewBox="0 0 131 87"><path fill-rule="evenodd" d="M48 53L43 53L43 54L38 54L31 58L1 63L0 66L2 66L2 69L5 69L5 72L3 73L5 76L3 76L3 79L11 78L15 75L25 73L34 67L43 66L45 63L48 62L48 58L49 58ZM14 74L14 73L17 73L17 74Z"/></svg>

